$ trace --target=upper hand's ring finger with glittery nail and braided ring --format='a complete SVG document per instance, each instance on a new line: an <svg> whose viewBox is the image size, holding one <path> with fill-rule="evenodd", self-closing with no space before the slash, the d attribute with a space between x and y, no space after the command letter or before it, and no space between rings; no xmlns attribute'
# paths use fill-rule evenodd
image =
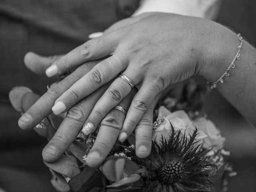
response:
<svg viewBox="0 0 256 192"><path fill-rule="evenodd" d="M124 72L126 74L126 71ZM135 76L130 74L129 78L136 79ZM136 79L137 84L140 79ZM88 116L84 127L91 127L88 132L84 134L90 134L94 132L100 121L106 116L106 114L114 108L128 93L132 90L131 86L122 78L116 78L114 82L110 85L108 90L102 95L102 97L95 104L93 110Z"/></svg>

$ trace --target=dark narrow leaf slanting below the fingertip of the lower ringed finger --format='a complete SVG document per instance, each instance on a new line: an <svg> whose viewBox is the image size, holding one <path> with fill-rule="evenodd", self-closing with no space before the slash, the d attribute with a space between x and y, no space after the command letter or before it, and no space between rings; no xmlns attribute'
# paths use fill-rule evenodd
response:
<svg viewBox="0 0 256 192"><path fill-rule="evenodd" d="M82 172L76 176L74 176L69 182L69 186L73 191L78 191L80 188L86 184L86 182L90 179L90 177L94 174L96 168L91 168L86 166ZM100 176L101 179L101 176ZM98 182L98 180L96 181Z"/></svg>

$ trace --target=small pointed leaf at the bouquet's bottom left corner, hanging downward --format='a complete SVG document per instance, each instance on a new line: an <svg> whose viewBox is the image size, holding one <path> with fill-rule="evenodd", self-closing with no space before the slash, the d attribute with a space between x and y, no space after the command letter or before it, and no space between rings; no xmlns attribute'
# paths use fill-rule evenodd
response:
<svg viewBox="0 0 256 192"><path fill-rule="evenodd" d="M68 182L62 176L62 174L59 174L53 170L50 169L50 172L52 173L52 179L51 183L52 186L58 191L58 192L68 192L70 191L70 187L68 185Z"/></svg>

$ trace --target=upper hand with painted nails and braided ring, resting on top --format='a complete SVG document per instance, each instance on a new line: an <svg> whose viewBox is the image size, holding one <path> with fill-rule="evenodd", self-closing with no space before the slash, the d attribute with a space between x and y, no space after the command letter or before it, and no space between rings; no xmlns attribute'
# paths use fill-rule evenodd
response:
<svg viewBox="0 0 256 192"><path fill-rule="evenodd" d="M140 87L121 130L119 140L124 141L160 91L201 70L199 61L205 58L202 45L209 42L208 36L203 34L209 34L215 27L209 22L175 14L154 13L115 24L112 30L106 30L103 36L75 48L46 70L48 76L60 74L82 62L113 53L58 97L53 112L59 114L67 111L122 72ZM96 102L85 126L93 124L95 129L98 117L106 116L131 90L126 81L116 78Z"/></svg>

